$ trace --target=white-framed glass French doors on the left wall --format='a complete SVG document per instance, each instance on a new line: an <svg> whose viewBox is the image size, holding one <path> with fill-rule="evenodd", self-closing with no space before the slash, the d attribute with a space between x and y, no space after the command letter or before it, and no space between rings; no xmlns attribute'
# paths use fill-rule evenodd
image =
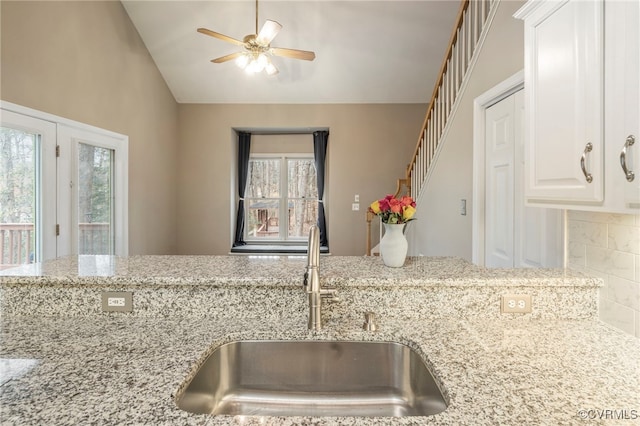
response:
<svg viewBox="0 0 640 426"><path fill-rule="evenodd" d="M2 102L0 268L128 253L128 139Z"/></svg>

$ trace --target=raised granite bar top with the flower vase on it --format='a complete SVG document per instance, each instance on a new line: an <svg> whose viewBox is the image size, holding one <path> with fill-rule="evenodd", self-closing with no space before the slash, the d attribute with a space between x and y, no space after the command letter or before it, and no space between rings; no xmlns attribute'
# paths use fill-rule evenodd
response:
<svg viewBox="0 0 640 426"><path fill-rule="evenodd" d="M0 284L142 286L298 286L304 256L69 256L0 271ZM322 256L323 285L589 286L599 280L566 269L488 269L455 257L409 257L389 268L374 256Z"/></svg>

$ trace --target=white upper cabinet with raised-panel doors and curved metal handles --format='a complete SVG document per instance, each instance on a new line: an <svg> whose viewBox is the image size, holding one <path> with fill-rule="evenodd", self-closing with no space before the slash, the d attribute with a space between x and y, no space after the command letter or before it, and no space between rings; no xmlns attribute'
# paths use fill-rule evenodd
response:
<svg viewBox="0 0 640 426"><path fill-rule="evenodd" d="M640 178L627 180L621 152L638 139L638 1L533 0L515 16L525 29L527 203L637 213ZM623 156L635 174L639 144Z"/></svg>

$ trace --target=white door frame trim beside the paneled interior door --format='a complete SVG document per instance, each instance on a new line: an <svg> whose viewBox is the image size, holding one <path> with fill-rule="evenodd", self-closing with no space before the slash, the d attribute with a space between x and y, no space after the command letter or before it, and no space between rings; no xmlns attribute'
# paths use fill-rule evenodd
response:
<svg viewBox="0 0 640 426"><path fill-rule="evenodd" d="M473 100L473 189L471 211L471 261L485 264L485 119L486 110L524 88L520 70Z"/></svg>

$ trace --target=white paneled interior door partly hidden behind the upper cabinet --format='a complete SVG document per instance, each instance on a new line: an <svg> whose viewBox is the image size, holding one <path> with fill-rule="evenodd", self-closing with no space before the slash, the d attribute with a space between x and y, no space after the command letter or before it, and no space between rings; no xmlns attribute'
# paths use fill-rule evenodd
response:
<svg viewBox="0 0 640 426"><path fill-rule="evenodd" d="M522 90L487 108L485 161L485 265L562 266L562 211L525 206Z"/></svg>

